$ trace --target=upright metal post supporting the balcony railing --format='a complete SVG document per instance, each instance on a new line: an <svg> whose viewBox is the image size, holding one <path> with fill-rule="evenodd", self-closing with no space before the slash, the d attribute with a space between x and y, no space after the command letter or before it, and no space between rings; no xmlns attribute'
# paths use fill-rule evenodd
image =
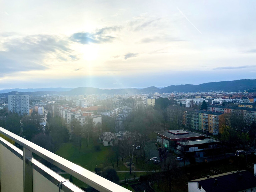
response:
<svg viewBox="0 0 256 192"><path fill-rule="evenodd" d="M33 192L32 166L28 159L32 158L32 152L23 147L23 191Z"/></svg>

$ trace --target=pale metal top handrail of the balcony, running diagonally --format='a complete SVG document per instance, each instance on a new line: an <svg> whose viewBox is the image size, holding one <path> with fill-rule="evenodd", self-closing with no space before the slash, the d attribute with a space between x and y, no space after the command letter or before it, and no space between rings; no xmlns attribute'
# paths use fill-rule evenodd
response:
<svg viewBox="0 0 256 192"><path fill-rule="evenodd" d="M12 139L19 145L23 146L27 150L35 153L36 155L40 156L41 158L45 159L46 161L52 163L56 167L64 170L65 172L69 173L70 175L74 176L75 178L79 179L80 181L88 184L89 186L95 188L98 191L102 192L129 192L127 190L99 175L84 169L83 167L76 165L14 133L7 131L6 129L0 127L0 133L5 135L6 137ZM23 157L24 158L24 157ZM24 161L24 159L23 159Z"/></svg>

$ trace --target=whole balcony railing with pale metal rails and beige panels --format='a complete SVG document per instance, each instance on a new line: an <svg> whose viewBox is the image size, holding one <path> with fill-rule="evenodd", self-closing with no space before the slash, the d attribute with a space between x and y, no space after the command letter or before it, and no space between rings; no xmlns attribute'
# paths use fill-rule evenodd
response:
<svg viewBox="0 0 256 192"><path fill-rule="evenodd" d="M33 158L32 153L64 170L73 177L102 192L129 192L38 145L19 137L2 127L0 133L22 146L20 150L0 137L0 192L83 192Z"/></svg>

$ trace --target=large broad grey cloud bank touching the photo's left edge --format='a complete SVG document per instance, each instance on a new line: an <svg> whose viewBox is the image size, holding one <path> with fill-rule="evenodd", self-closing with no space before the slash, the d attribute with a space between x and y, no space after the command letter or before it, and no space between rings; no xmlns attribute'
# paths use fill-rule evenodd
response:
<svg viewBox="0 0 256 192"><path fill-rule="evenodd" d="M11 36L12 34L10 34ZM44 62L49 54L62 61L71 60L73 50L69 48L69 42L53 35L29 35L8 36L2 38L2 51L0 51L0 63L3 66L2 74L46 70Z"/></svg>

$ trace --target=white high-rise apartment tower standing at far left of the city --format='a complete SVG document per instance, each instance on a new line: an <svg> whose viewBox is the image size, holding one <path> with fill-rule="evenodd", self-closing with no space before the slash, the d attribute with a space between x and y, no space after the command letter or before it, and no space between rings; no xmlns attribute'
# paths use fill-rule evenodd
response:
<svg viewBox="0 0 256 192"><path fill-rule="evenodd" d="M29 115L29 96L28 95L8 95L8 110L20 115Z"/></svg>

